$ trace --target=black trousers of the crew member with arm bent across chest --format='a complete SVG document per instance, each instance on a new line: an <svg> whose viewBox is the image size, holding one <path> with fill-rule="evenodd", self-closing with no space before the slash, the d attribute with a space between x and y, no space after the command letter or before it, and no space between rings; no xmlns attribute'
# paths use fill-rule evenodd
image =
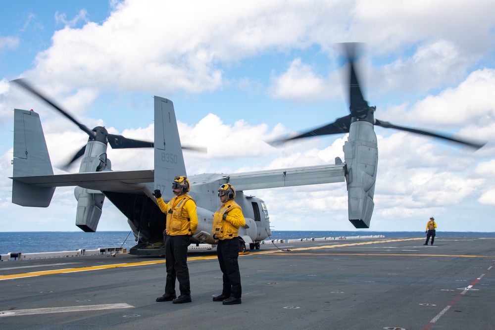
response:
<svg viewBox="0 0 495 330"><path fill-rule="evenodd" d="M222 294L241 298L241 272L239 271L239 237L219 240L217 245L218 262L223 273Z"/></svg>

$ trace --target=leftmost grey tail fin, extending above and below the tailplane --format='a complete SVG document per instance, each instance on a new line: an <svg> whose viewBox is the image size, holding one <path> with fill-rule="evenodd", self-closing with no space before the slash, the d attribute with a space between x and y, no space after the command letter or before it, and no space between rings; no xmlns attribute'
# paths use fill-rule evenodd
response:
<svg viewBox="0 0 495 330"><path fill-rule="evenodd" d="M15 180L16 177L53 174L40 115L32 110L14 109L12 165L12 203L48 207L55 187L32 186Z"/></svg>

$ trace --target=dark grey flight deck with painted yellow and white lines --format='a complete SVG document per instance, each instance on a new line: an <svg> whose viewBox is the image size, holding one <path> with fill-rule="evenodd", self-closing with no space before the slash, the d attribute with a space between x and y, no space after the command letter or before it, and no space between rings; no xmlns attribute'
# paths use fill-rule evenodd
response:
<svg viewBox="0 0 495 330"><path fill-rule="evenodd" d="M211 300L222 287L215 251L190 252L187 304L155 302L163 258L1 262L0 329L495 329L495 239L423 243L263 245L240 256L243 303L231 306Z"/></svg>

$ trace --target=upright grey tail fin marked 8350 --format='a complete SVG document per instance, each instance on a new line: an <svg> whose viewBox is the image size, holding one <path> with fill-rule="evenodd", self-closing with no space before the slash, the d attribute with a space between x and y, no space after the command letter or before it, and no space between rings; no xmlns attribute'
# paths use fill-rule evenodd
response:
<svg viewBox="0 0 495 330"><path fill-rule="evenodd" d="M172 182L186 174L174 104L163 97L154 97L154 189L160 189L163 199L170 200Z"/></svg>

